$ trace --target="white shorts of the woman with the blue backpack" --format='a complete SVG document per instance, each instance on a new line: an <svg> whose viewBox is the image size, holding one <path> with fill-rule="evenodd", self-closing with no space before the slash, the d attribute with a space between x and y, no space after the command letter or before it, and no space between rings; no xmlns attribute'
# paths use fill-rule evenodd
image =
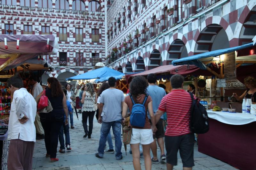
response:
<svg viewBox="0 0 256 170"><path fill-rule="evenodd" d="M154 141L152 129L132 128L130 144L151 144Z"/></svg>

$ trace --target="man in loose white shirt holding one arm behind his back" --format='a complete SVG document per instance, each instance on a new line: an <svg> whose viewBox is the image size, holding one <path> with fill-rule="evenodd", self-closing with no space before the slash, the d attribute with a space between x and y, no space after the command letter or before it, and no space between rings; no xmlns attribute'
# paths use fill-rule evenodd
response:
<svg viewBox="0 0 256 170"><path fill-rule="evenodd" d="M10 141L7 166L8 169L32 169L32 158L36 142L36 100L23 88L19 76L8 80L13 95L10 117L4 119L8 126Z"/></svg>

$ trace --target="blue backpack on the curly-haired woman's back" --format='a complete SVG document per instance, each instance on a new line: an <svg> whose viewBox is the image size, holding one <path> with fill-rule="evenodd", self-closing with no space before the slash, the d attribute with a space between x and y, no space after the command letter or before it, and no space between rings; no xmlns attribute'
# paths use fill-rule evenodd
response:
<svg viewBox="0 0 256 170"><path fill-rule="evenodd" d="M131 116L130 116L130 124L132 126L137 126L143 128L146 122L146 108L145 108L145 103L146 100L148 99L148 95L145 96L145 99L142 104L135 103L132 95L129 94L132 100L132 111L131 111Z"/></svg>

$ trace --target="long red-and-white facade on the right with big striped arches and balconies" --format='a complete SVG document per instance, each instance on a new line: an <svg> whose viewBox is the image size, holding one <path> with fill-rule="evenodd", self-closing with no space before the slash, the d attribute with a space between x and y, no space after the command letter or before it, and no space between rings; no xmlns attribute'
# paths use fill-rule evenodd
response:
<svg viewBox="0 0 256 170"><path fill-rule="evenodd" d="M124 73L242 45L256 35L256 0L115 0L107 15L106 64Z"/></svg>

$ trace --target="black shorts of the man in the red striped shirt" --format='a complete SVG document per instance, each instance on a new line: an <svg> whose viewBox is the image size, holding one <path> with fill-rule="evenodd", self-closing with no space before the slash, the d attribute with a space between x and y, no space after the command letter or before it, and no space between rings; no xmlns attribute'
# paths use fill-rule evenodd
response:
<svg viewBox="0 0 256 170"><path fill-rule="evenodd" d="M165 136L166 162L174 166L177 165L177 153L180 150L180 158L183 167L192 167L194 164L194 133L181 136Z"/></svg>

